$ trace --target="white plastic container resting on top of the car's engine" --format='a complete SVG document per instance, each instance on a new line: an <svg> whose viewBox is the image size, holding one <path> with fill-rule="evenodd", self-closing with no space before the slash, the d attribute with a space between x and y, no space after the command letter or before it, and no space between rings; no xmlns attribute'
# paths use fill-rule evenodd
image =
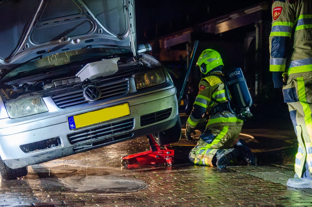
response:
<svg viewBox="0 0 312 207"><path fill-rule="evenodd" d="M94 79L100 76L109 76L118 71L117 61L119 58L105 59L93 63L88 63L83 67L76 76L84 81L89 78Z"/></svg>

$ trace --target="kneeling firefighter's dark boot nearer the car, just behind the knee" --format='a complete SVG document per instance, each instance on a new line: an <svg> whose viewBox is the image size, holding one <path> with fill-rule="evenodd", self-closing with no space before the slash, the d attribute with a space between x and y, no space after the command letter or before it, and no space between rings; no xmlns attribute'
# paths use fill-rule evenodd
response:
<svg viewBox="0 0 312 207"><path fill-rule="evenodd" d="M237 159L239 157L239 152L237 149L223 149L216 153L217 158L217 168L223 169L226 168L230 161Z"/></svg>

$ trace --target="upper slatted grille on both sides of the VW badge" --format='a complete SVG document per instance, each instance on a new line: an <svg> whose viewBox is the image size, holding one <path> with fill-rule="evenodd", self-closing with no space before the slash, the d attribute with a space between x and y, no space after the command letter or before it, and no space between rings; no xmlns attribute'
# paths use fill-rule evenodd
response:
<svg viewBox="0 0 312 207"><path fill-rule="evenodd" d="M129 91L128 79L123 79L111 83L105 83L97 86L101 90L101 96L99 100L112 98L118 95L125 94ZM59 108L77 106L90 101L85 98L85 96L83 95L83 91L84 91L83 89L80 89L77 91L58 94L56 96L52 96L52 99Z"/></svg>

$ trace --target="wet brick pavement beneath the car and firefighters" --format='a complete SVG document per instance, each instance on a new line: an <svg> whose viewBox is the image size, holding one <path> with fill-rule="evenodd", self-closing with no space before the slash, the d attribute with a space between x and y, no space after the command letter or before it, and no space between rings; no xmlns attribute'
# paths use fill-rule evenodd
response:
<svg viewBox="0 0 312 207"><path fill-rule="evenodd" d="M122 169L122 156L149 149L141 137L29 166L26 177L1 180L0 206L312 206L311 189L285 185L294 175L293 132L246 128L242 133L258 166L223 171L194 166L188 152L195 142L183 137L171 146L172 166Z"/></svg>

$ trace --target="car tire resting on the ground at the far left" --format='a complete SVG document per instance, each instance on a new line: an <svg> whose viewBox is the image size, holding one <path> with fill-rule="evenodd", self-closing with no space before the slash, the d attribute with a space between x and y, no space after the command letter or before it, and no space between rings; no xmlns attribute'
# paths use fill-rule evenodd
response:
<svg viewBox="0 0 312 207"><path fill-rule="evenodd" d="M27 167L12 169L9 168L0 158L0 176L3 180L16 180L18 177L26 176L28 173Z"/></svg>

